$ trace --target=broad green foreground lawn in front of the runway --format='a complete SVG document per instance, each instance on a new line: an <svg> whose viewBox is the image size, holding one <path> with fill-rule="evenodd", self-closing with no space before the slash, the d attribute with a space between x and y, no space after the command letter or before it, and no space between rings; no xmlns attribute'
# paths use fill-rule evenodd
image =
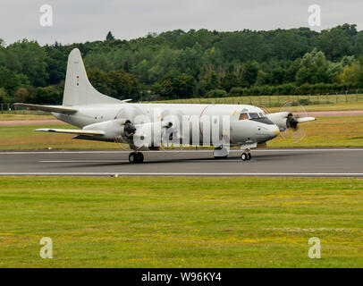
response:
<svg viewBox="0 0 363 286"><path fill-rule="evenodd" d="M360 179L2 177L0 189L0 267L363 266Z"/></svg>

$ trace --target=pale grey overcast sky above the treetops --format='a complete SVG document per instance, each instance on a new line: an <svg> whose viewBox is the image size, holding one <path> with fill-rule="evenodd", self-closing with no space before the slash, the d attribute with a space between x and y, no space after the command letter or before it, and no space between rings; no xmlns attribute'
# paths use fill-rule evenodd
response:
<svg viewBox="0 0 363 286"><path fill-rule="evenodd" d="M42 4L53 7L53 27L39 23ZM0 38L63 44L130 39L172 29L290 29L308 27L308 6L321 6L321 29L345 22L363 29L362 0L1 0Z"/></svg>

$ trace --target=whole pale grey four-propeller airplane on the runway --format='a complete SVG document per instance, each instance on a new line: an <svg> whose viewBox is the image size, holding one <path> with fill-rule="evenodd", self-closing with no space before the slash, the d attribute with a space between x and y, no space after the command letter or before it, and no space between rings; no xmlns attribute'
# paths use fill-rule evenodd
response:
<svg viewBox="0 0 363 286"><path fill-rule="evenodd" d="M215 147L215 158L228 156L229 147L241 147L241 160L249 150L266 146L280 132L297 129L314 117L294 118L289 112L266 114L254 105L132 104L99 93L89 82L75 48L68 57L63 105L30 105L31 110L50 112L55 118L81 128L39 129L71 133L74 139L128 144L134 151L130 163L142 163L143 150L160 150L163 144Z"/></svg>

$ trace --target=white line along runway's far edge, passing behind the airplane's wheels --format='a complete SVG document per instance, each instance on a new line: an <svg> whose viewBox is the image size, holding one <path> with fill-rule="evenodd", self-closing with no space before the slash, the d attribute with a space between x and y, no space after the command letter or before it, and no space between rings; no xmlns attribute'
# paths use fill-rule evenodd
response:
<svg viewBox="0 0 363 286"><path fill-rule="evenodd" d="M241 152L242 150L231 149L230 152ZM251 152L332 152L332 151L363 151L363 148L332 148L332 149L300 149L300 148L291 148L291 149L252 149ZM122 153L130 153L131 150L115 150L115 151L9 151L9 152L0 152L0 155L37 155L37 154L122 154ZM166 153L199 153L199 152L209 152L213 153L213 149L210 150L171 150L171 151L143 151L145 153L156 153L156 154L166 154Z"/></svg>

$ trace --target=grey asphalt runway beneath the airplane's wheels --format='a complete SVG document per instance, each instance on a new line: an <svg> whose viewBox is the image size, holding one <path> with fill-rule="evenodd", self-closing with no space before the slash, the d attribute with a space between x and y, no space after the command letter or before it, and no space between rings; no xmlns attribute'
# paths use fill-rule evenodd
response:
<svg viewBox="0 0 363 286"><path fill-rule="evenodd" d="M257 149L244 162L239 150L222 160L211 150L143 153L130 164L120 150L0 152L0 175L363 177L363 148Z"/></svg>

